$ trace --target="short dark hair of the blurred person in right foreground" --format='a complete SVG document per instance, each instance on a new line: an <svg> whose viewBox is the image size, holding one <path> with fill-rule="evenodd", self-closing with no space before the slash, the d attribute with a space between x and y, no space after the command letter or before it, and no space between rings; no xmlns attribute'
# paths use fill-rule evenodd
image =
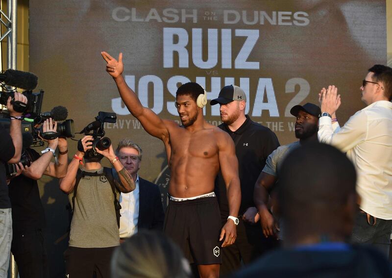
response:
<svg viewBox="0 0 392 278"><path fill-rule="evenodd" d="M342 206L356 196L354 165L343 152L326 144L308 143L290 152L278 177L279 211L287 229L320 227L320 221L336 225Z"/></svg>

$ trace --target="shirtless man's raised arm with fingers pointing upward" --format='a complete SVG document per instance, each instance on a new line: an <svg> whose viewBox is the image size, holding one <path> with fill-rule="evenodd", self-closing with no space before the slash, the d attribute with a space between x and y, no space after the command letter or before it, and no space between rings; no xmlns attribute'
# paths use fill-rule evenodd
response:
<svg viewBox="0 0 392 278"><path fill-rule="evenodd" d="M169 140L169 131L165 126L165 121L158 117L151 109L144 107L134 91L129 88L123 78L123 53L119 54L119 60L110 56L107 52L101 52L106 61L106 71L113 77L129 112L136 117L144 129L154 137L162 141Z"/></svg>

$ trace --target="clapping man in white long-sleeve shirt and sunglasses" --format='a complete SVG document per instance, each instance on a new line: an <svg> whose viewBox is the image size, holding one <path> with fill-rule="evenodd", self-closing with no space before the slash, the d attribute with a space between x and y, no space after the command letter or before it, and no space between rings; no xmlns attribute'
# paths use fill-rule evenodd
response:
<svg viewBox="0 0 392 278"><path fill-rule="evenodd" d="M392 231L392 69L374 65L361 86L368 106L355 113L340 130L332 131L330 114L340 105L337 88L320 96L319 141L346 152L357 170L361 197L352 241L368 243L389 255ZM320 161L322 164L322 161Z"/></svg>

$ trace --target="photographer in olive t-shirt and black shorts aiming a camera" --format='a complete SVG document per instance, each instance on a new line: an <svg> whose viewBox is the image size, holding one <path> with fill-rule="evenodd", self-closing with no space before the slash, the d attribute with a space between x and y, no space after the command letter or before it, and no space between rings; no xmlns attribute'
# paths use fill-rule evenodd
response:
<svg viewBox="0 0 392 278"><path fill-rule="evenodd" d="M91 278L94 273L97 277L110 277L110 258L120 244L119 191L128 193L135 189L135 182L113 151L110 139L102 138L103 122L96 121L84 129L97 127L92 135L79 140L67 175L60 180L60 189L68 194L73 209L69 247L64 253L67 277ZM97 132L99 128L101 132ZM112 169L102 167L103 157L114 166L115 176ZM82 170L79 164L84 166Z"/></svg>

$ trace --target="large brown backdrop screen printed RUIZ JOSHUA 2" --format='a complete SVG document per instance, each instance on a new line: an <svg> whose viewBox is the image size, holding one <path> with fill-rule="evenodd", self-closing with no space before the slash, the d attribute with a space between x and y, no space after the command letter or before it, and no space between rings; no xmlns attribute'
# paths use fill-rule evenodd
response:
<svg viewBox="0 0 392 278"><path fill-rule="evenodd" d="M335 84L341 124L364 107L360 86L373 64L385 64L385 0L30 1L30 71L45 91L44 110L64 105L76 130L98 111L117 144L131 138L144 151L140 174L164 193L170 177L164 146L148 135L119 98L100 52L123 52L125 80L143 105L179 120L175 91L196 81L208 100L235 84L247 96L246 113L270 127L280 143L293 142L290 108L318 103ZM219 125L219 105L204 108ZM77 136L77 139L81 136ZM76 150L73 141L70 156ZM53 201L54 202L54 201Z"/></svg>

